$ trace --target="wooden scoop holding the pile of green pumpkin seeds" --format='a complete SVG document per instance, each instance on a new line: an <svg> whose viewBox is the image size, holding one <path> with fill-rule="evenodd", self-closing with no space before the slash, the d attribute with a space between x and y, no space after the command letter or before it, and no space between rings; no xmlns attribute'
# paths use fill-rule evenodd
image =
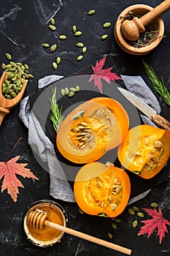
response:
<svg viewBox="0 0 170 256"><path fill-rule="evenodd" d="M20 102L20 99L22 99L23 97L23 93L26 89L28 80L20 78L21 80L23 80L23 88L22 90L19 92L19 94L13 98L13 99L6 99L3 94L2 94L2 85L4 83L4 80L7 80L7 76L9 75L8 72L3 72L3 74L1 75L1 79L0 79L0 127L1 127L1 123L4 119L4 116L6 116L9 113L9 109L15 107L15 105L18 104L18 102Z"/></svg>

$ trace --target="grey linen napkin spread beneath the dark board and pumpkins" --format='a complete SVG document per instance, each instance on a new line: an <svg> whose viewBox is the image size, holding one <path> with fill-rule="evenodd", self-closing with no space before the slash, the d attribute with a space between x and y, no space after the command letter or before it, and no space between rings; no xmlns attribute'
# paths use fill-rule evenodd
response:
<svg viewBox="0 0 170 256"><path fill-rule="evenodd" d="M147 104L150 104L158 113L161 112L157 99L140 76L132 77L122 75L121 77L123 78L123 82L129 91L143 99ZM63 77L58 75L50 75L42 78L39 80L38 88L43 88L61 78ZM55 155L53 143L51 143L49 138L47 138L41 125L39 124L39 121L34 113L32 113L28 97L22 99L20 102L19 118L28 128L28 144L31 145L31 148L39 156L41 161L45 162L45 165L47 165L47 170L49 170L50 173L50 195L55 199L75 202L72 187L70 187L69 182L66 181L64 171ZM154 125L149 118L142 116L142 119L144 123ZM131 198L129 203L134 203L136 200L145 197L148 192L150 192L150 189L134 198Z"/></svg>

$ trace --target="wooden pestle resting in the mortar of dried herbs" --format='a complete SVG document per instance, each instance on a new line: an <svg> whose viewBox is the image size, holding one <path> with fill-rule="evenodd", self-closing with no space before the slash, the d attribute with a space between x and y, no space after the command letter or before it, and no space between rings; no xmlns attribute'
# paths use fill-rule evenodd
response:
<svg viewBox="0 0 170 256"><path fill-rule="evenodd" d="M139 34L145 31L144 26L147 26L152 20L160 16L163 12L170 9L170 1L165 0L157 7L147 12L141 18L134 17L133 20L124 20L121 25L121 32L125 39L136 41L139 39Z"/></svg>

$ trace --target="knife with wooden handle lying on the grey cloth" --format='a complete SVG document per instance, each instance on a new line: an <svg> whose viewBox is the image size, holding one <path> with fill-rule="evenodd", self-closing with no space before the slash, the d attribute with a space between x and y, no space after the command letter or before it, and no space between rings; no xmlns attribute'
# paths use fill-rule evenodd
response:
<svg viewBox="0 0 170 256"><path fill-rule="evenodd" d="M123 88L117 87L117 89L123 94L123 96L128 99L136 108L138 108L145 116L148 116L158 127L163 129L167 129L170 131L170 121L166 120L162 116L159 116L157 112L151 108L147 103L145 103L142 99L139 99L130 91L127 91Z"/></svg>

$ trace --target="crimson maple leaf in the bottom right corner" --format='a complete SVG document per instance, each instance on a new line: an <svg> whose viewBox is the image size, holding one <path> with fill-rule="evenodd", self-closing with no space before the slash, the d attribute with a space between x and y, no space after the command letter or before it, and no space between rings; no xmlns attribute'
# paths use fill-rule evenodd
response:
<svg viewBox="0 0 170 256"><path fill-rule="evenodd" d="M165 233L169 233L166 225L170 225L170 222L167 219L163 218L161 208L159 208L158 211L156 211L156 209L152 210L144 208L144 211L146 211L147 214L152 217L152 219L142 221L144 223L144 226L140 227L141 230L139 231L138 236L147 234L147 238L149 238L157 227L159 242L161 244L163 238L165 237Z"/></svg>

